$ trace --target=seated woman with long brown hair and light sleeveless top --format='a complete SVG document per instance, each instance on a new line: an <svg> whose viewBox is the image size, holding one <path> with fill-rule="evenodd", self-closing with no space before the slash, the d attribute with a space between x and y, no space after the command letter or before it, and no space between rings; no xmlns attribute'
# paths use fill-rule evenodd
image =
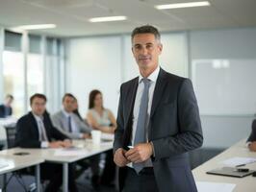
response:
<svg viewBox="0 0 256 192"><path fill-rule="evenodd" d="M102 93L99 90L90 91L89 112L87 120L92 129L101 132L114 133L115 116L110 109L103 107ZM101 184L110 185L115 180L115 163L112 150L106 153L105 168L100 180Z"/></svg>

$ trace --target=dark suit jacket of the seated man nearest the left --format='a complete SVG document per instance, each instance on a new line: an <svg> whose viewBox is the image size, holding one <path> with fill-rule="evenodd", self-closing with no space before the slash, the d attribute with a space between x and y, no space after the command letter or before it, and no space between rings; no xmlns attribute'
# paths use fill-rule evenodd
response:
<svg viewBox="0 0 256 192"><path fill-rule="evenodd" d="M43 115L43 124L49 141L64 140L66 136L53 127L48 113ZM32 112L22 116L16 124L15 145L23 148L40 148L38 123Z"/></svg>

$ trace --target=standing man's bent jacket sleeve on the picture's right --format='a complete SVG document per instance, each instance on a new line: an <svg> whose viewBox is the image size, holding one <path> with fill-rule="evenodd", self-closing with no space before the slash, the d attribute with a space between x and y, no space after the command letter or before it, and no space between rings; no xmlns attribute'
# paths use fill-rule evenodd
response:
<svg viewBox="0 0 256 192"><path fill-rule="evenodd" d="M185 79L179 88L177 114L179 132L152 141L155 160L192 151L203 143L199 110L189 79Z"/></svg>

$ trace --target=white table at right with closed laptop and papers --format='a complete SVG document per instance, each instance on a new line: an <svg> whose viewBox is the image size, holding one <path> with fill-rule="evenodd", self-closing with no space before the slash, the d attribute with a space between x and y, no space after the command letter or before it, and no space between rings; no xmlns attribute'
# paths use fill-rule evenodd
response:
<svg viewBox="0 0 256 192"><path fill-rule="evenodd" d="M206 174L207 171L223 167L223 161L231 158L234 159L234 157L256 158L256 152L250 152L245 146L245 139L243 139L219 154L218 156L211 158L210 160L193 169L192 174L194 180L196 182L207 181L215 183L233 183L236 184L233 190L234 192L255 192L256 178L252 177L251 175L244 178L233 178ZM256 162L246 164L245 166L243 166L243 168L249 168L250 170L256 171Z"/></svg>

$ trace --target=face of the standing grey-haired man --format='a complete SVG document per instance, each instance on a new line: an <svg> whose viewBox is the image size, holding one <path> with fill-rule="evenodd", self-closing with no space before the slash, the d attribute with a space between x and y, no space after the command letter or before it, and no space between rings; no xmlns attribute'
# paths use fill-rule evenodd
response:
<svg viewBox="0 0 256 192"><path fill-rule="evenodd" d="M138 34L132 40L132 51L139 68L154 70L158 65L159 55L162 53L162 44L153 34Z"/></svg>

